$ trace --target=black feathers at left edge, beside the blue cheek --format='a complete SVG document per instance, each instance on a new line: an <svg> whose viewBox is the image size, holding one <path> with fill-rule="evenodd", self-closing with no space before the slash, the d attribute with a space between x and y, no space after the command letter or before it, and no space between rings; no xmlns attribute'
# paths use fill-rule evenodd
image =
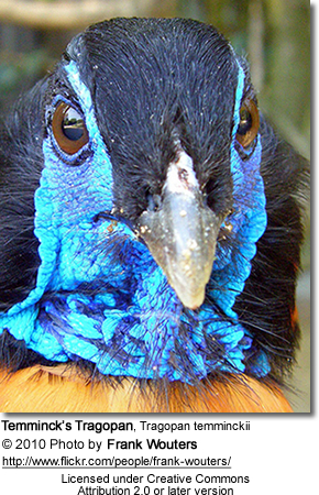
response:
<svg viewBox="0 0 319 495"><path fill-rule="evenodd" d="M43 99L47 81L21 97L0 127L0 310L24 299L40 264L34 193L43 168Z"/></svg>

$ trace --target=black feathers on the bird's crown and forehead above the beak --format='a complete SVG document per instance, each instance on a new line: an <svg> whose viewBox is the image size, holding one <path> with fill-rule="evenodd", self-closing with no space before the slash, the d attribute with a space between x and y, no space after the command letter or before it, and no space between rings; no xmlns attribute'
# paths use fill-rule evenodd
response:
<svg viewBox="0 0 319 495"><path fill-rule="evenodd" d="M217 172L217 164L229 154L237 65L213 28L189 20L116 19L89 28L67 57L84 61L81 77L114 164L116 205L128 218L145 209L150 191L161 193L177 139L200 184L217 183L211 201L227 209L230 177L227 169Z"/></svg>

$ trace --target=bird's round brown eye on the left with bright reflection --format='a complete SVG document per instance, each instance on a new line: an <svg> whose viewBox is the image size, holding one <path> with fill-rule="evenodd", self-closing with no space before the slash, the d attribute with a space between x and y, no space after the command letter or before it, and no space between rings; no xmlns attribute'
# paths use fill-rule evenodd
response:
<svg viewBox="0 0 319 495"><path fill-rule="evenodd" d="M54 138L65 153L74 155L89 141L82 116L67 103L59 103L52 119Z"/></svg>

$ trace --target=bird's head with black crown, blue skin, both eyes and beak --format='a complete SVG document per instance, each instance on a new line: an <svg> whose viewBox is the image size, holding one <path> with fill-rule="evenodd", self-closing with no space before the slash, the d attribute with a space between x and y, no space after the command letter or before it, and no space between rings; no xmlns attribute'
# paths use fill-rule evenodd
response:
<svg viewBox="0 0 319 495"><path fill-rule="evenodd" d="M37 102L36 280L2 328L103 374L194 383L249 360L267 374L234 308L267 222L258 111L224 38L193 21L97 24Z"/></svg>

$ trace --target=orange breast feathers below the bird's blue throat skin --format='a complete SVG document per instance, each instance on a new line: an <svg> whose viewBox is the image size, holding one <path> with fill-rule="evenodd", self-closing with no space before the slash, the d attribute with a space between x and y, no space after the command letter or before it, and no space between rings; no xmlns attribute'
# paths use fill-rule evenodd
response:
<svg viewBox="0 0 319 495"><path fill-rule="evenodd" d="M33 366L0 373L3 413L292 413L275 383L242 375L206 381L201 389L170 383L160 391L133 380L90 382L74 367Z"/></svg>

